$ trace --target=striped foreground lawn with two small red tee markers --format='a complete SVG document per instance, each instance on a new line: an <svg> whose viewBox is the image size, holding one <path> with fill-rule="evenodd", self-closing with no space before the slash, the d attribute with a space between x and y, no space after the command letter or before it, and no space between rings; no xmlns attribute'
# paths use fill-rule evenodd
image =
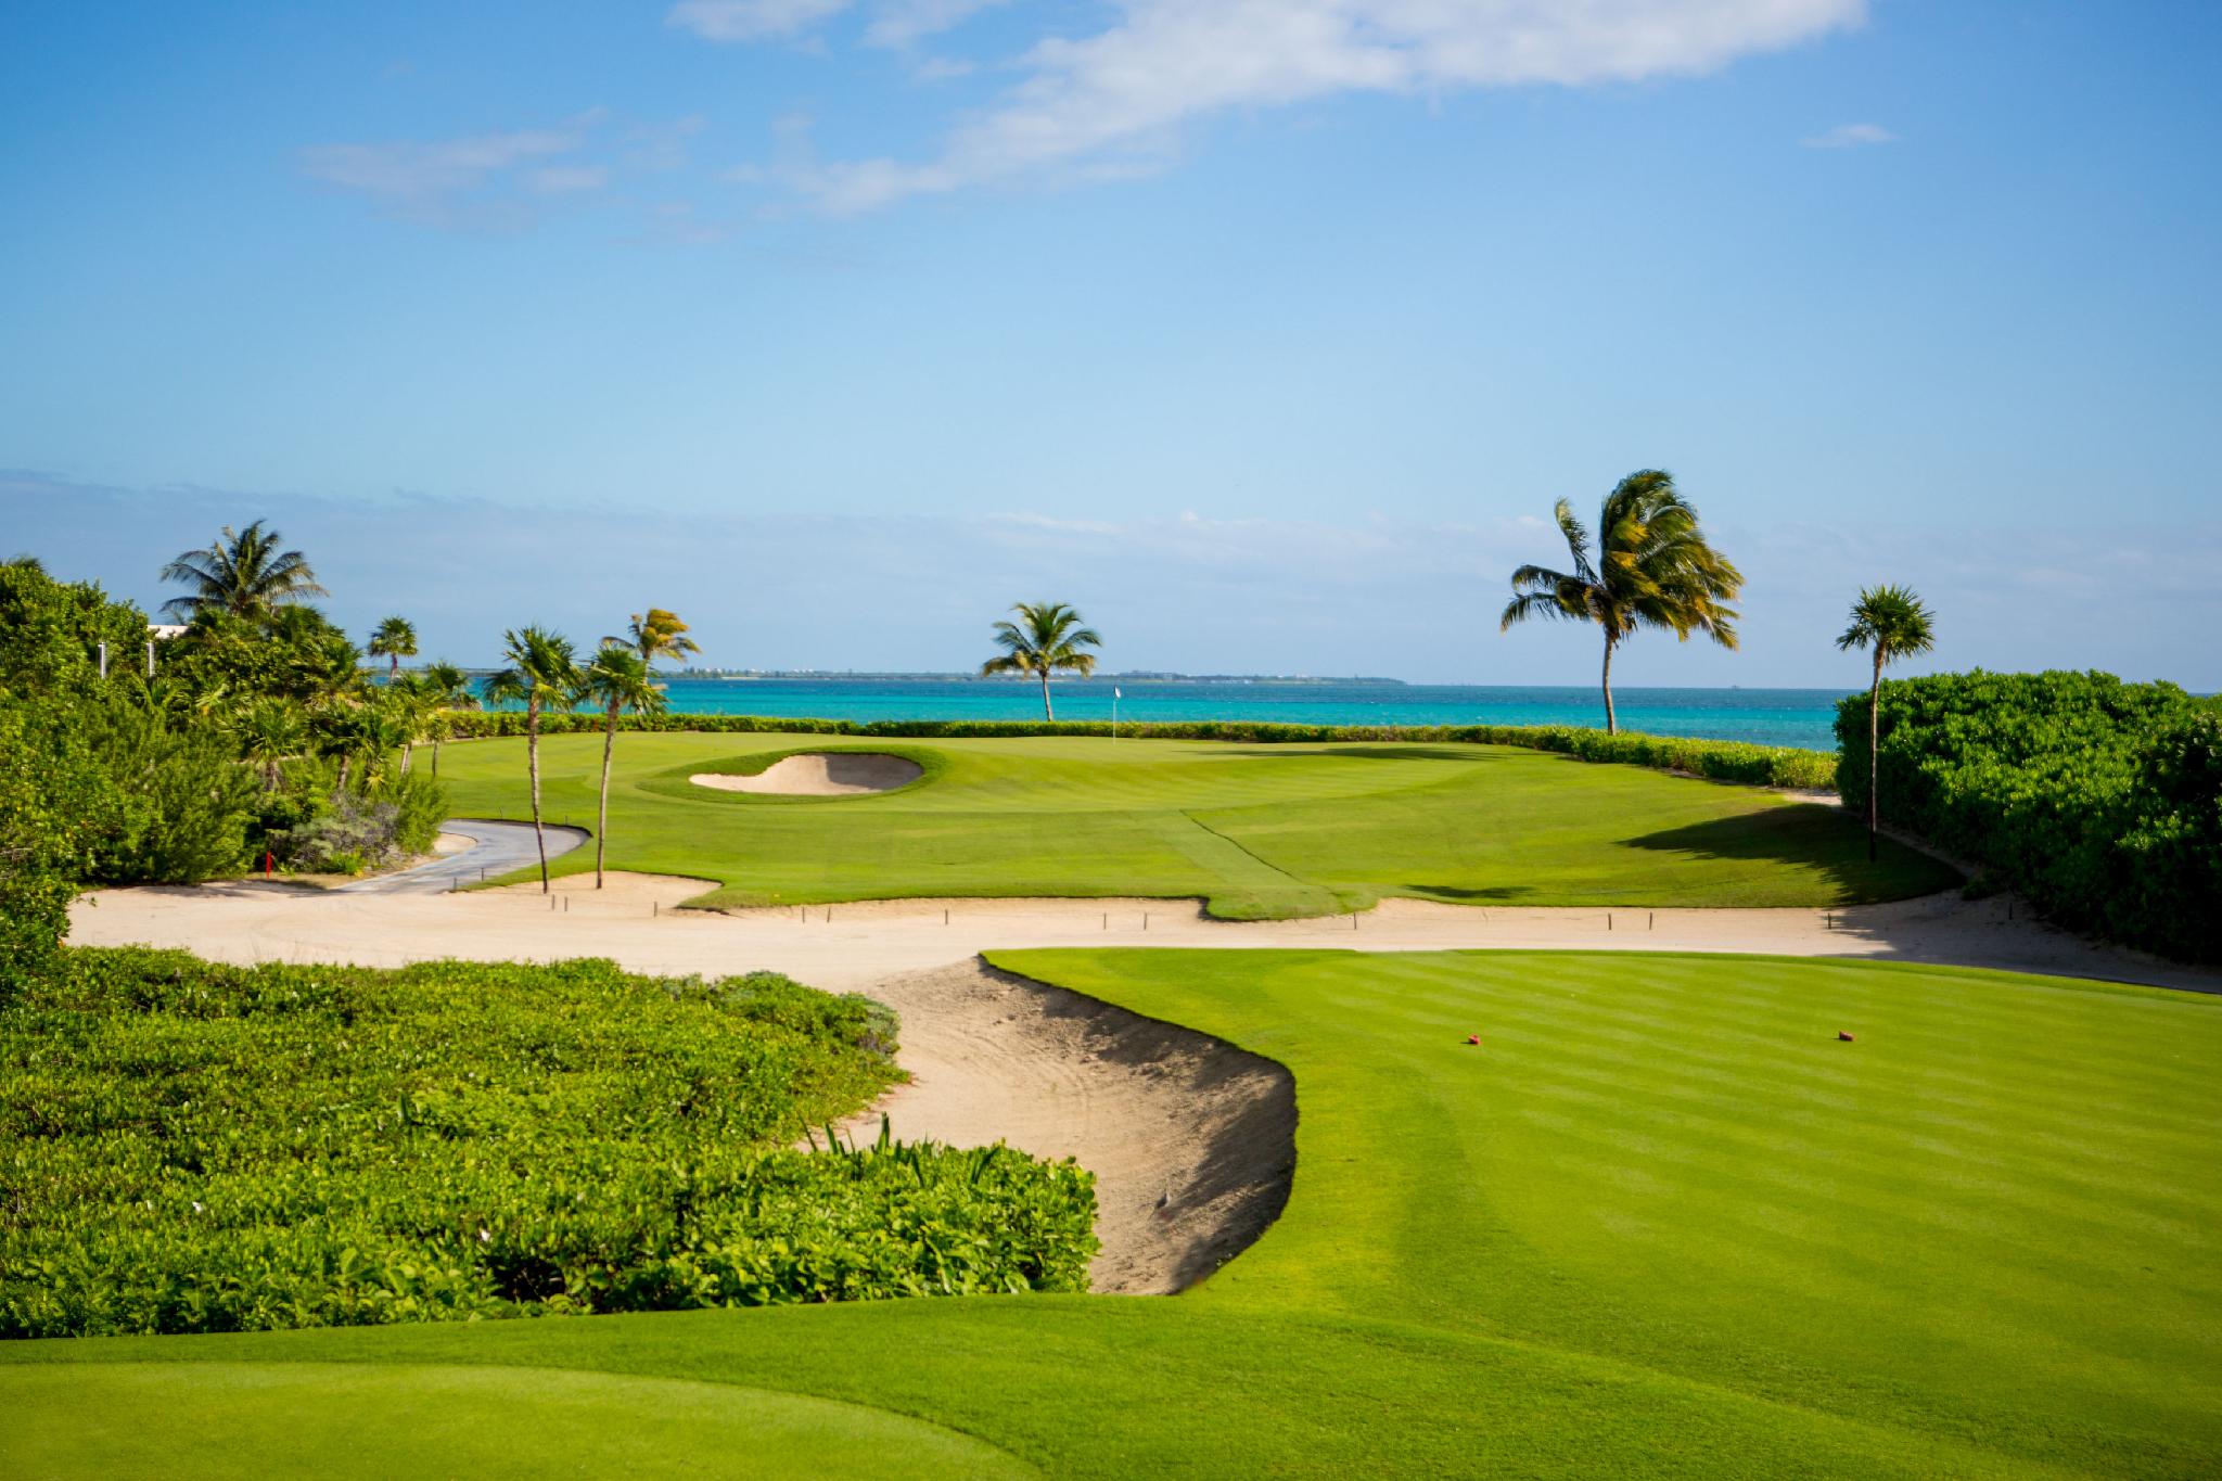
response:
<svg viewBox="0 0 2222 1481"><path fill-rule="evenodd" d="M431 1408L480 1363L735 1383L1058 1474L2222 1465L2218 999L1771 957L995 961L1293 1070L1295 1192L1258 1246L1175 1299L9 1343L0 1410L47 1439L0 1425L0 1470L111 1454L56 1414L111 1432L113 1379L69 1399L49 1363L162 1359L400 1366L391 1403ZM284 1454L198 1379L156 1390L149 1428L267 1441L238 1470ZM333 1403L309 1408L364 1412ZM316 1468L422 1470L389 1430Z"/></svg>

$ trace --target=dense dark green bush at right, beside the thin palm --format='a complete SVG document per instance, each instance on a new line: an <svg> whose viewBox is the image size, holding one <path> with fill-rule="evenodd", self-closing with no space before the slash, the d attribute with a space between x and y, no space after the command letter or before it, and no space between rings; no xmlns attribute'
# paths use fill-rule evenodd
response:
<svg viewBox="0 0 2222 1481"><path fill-rule="evenodd" d="M2222 959L2222 704L2106 673L1884 684L1882 819L1984 864L2064 926ZM1846 808L1866 697L1844 699Z"/></svg>

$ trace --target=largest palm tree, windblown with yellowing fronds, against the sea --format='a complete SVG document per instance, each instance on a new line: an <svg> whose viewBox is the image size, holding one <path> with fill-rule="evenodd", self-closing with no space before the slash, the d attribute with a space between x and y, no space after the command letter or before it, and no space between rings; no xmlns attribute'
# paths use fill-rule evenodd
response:
<svg viewBox="0 0 2222 1481"><path fill-rule="evenodd" d="M1744 573L1704 540L1698 511L1675 493L1673 475L1658 469L1629 473L1604 495L1595 557L1573 504L1558 502L1558 528L1573 553L1573 571L1520 566L1513 600L1498 631L1529 617L1567 617L1604 628L1604 733L1620 731L1613 713L1613 648L1635 628L1666 628L1689 642L1704 633L1722 648L1735 646L1735 608Z"/></svg>

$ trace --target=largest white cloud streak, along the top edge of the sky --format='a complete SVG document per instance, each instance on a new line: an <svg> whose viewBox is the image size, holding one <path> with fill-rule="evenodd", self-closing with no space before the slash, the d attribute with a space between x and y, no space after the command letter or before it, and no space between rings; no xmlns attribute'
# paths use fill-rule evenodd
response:
<svg viewBox="0 0 2222 1481"><path fill-rule="evenodd" d="M1133 173L1231 109L1704 73L1853 27L1864 0L1118 0L1115 11L1091 36L1035 42L1018 62L1024 80L938 155L835 162L791 182L855 213L1044 173ZM893 11L880 24L900 33Z"/></svg>

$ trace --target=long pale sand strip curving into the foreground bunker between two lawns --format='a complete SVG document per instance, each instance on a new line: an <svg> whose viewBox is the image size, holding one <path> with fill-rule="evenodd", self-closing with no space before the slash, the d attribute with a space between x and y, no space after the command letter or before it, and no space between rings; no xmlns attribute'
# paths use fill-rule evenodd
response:
<svg viewBox="0 0 2222 1481"><path fill-rule="evenodd" d="M2222 993L2222 973L2095 946L2009 897L1853 910L1480 910L1384 901L1360 917L1211 921L1169 899L907 899L787 910L678 910L700 879L611 875L464 895L307 893L260 881L102 890L71 939L182 946L222 961L613 957L642 973L789 973L902 1015L913 1081L898 1137L1007 1139L1098 1175L1100 1290L1180 1290L1247 1246L1287 1199L1295 1099L1280 1066L1109 1004L993 973L1027 946L1584 948L1880 957ZM869 1135L873 1108L860 1121Z"/></svg>

